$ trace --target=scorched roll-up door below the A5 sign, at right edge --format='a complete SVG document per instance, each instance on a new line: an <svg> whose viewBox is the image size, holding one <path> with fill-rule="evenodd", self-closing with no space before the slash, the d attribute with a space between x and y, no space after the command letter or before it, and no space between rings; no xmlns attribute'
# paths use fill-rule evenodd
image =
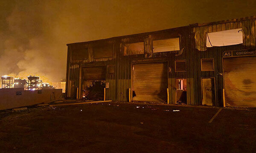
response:
<svg viewBox="0 0 256 153"><path fill-rule="evenodd" d="M256 107L256 57L224 58L227 106Z"/></svg>

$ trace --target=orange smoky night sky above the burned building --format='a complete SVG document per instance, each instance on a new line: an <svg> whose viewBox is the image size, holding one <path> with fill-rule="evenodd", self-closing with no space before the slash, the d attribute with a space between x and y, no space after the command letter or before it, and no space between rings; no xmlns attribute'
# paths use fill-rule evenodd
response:
<svg viewBox="0 0 256 153"><path fill-rule="evenodd" d="M256 15L255 0L0 0L0 75L65 79L67 43Z"/></svg>

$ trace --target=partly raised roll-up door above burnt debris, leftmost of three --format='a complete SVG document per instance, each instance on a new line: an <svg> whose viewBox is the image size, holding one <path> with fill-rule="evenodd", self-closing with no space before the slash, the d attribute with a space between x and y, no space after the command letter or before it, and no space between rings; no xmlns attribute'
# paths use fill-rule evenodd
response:
<svg viewBox="0 0 256 153"><path fill-rule="evenodd" d="M83 68L84 80L105 80L105 78L106 78L105 66Z"/></svg>

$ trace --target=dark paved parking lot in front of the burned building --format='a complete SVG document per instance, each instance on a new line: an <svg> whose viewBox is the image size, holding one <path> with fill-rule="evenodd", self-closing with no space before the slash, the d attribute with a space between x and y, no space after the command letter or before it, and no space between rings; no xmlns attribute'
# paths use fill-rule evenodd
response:
<svg viewBox="0 0 256 153"><path fill-rule="evenodd" d="M180 110L180 111L173 111ZM251 153L256 111L127 103L0 113L1 153Z"/></svg>

